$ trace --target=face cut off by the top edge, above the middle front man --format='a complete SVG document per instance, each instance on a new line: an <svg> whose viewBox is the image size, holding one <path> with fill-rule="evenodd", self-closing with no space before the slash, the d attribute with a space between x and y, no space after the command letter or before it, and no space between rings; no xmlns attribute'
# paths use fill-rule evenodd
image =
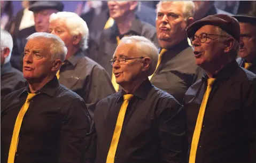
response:
<svg viewBox="0 0 256 163"><path fill-rule="evenodd" d="M107 1L110 17L113 19L122 18L130 11L130 1Z"/></svg>

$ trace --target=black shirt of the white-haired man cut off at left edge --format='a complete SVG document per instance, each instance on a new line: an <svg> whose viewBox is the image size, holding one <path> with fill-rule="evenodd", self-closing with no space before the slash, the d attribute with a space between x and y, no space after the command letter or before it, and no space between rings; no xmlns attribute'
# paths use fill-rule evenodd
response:
<svg viewBox="0 0 256 163"><path fill-rule="evenodd" d="M10 62L3 64L1 67L1 101L7 94L25 86L26 79L22 72L13 68Z"/></svg>

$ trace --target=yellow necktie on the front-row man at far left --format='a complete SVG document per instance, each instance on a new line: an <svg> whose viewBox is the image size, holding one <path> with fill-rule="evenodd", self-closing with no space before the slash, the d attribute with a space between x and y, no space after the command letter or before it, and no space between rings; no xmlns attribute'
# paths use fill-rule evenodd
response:
<svg viewBox="0 0 256 163"><path fill-rule="evenodd" d="M18 147L18 141L19 141L19 133L20 133L20 127L22 124L23 117L28 110L28 106L30 103L30 100L35 96L35 93L29 93L27 96L27 99L25 103L23 104L22 108L19 111L19 114L16 118L13 133L12 133L12 141L9 149L9 156L7 163L14 163L15 153L17 151Z"/></svg>

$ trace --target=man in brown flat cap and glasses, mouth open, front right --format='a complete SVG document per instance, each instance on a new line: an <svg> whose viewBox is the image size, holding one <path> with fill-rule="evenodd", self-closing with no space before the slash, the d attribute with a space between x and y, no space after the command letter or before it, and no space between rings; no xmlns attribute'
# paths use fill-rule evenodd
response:
<svg viewBox="0 0 256 163"><path fill-rule="evenodd" d="M240 28L226 14L192 23L187 35L203 77L184 97L189 163L256 162L256 76L238 66Z"/></svg>

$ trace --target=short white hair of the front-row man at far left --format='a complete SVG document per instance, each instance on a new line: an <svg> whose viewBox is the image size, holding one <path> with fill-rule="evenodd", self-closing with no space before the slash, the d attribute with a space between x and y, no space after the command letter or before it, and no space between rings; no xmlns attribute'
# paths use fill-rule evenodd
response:
<svg viewBox="0 0 256 163"><path fill-rule="evenodd" d="M33 38L46 38L50 39L52 41L50 45L50 53L51 53L51 60L60 59L62 62L65 60L65 57L67 55L67 47L65 46L65 43L63 40L61 40L58 36L55 36L53 34L49 34L46 32L35 32L34 34L27 37L27 40L33 39Z"/></svg>

